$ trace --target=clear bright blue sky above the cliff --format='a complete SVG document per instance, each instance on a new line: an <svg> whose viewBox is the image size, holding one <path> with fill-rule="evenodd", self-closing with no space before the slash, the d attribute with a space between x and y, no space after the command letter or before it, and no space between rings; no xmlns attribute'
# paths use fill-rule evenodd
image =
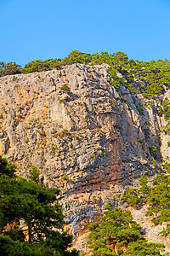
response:
<svg viewBox="0 0 170 256"><path fill-rule="evenodd" d="M123 51L170 60L170 0L0 0L0 61Z"/></svg>

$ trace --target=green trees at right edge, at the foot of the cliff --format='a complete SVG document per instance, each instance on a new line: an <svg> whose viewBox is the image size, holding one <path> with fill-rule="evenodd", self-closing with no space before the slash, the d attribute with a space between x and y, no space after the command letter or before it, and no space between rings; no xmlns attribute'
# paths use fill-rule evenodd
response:
<svg viewBox="0 0 170 256"><path fill-rule="evenodd" d="M167 172L170 172L170 164L163 165ZM139 207L148 203L149 207L146 216L152 217L154 224L162 224L170 221L170 175L159 173L152 186L147 184L147 177L143 175L139 179L140 189L127 189L124 200L129 206ZM170 234L170 226L161 232L163 236Z"/></svg>

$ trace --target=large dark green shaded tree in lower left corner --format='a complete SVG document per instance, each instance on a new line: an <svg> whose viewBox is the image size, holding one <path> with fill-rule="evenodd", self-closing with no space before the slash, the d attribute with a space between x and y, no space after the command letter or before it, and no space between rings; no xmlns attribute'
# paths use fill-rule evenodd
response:
<svg viewBox="0 0 170 256"><path fill-rule="evenodd" d="M59 232L64 224L57 200L59 189L38 183L36 166L31 168L30 180L14 176L13 167L0 158L0 252L6 250L6 255L78 255L76 251L66 250L71 246L72 237ZM25 223L24 230L21 220ZM22 251L31 253L22 254Z"/></svg>

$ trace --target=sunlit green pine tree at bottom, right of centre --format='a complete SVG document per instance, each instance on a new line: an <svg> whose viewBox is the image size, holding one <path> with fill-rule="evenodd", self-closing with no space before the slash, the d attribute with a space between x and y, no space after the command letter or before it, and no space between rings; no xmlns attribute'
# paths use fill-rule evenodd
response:
<svg viewBox="0 0 170 256"><path fill-rule="evenodd" d="M161 255L158 243L147 243L139 234L141 227L133 221L129 211L114 208L105 211L100 224L88 226L89 248L93 249L92 256L105 255ZM138 254L134 253L135 250ZM154 254L155 253L155 254Z"/></svg>

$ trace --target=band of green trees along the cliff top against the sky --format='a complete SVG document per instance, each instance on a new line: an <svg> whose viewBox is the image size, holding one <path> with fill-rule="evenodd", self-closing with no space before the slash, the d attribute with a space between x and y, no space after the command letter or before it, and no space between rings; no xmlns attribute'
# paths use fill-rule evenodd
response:
<svg viewBox="0 0 170 256"><path fill-rule="evenodd" d="M96 65L107 63L111 66L108 72L111 75L110 84L118 90L121 84L127 84L127 88L134 92L141 92L145 97L159 96L164 87L170 87L170 61L134 61L128 60L122 51L116 54L101 52L93 55L73 50L64 59L49 59L46 61L31 61L24 68L15 62L5 64L0 62L0 76L17 73L32 73L48 71L51 68L59 68L75 63ZM134 83L138 84L138 89ZM136 91L137 90L137 91Z"/></svg>

